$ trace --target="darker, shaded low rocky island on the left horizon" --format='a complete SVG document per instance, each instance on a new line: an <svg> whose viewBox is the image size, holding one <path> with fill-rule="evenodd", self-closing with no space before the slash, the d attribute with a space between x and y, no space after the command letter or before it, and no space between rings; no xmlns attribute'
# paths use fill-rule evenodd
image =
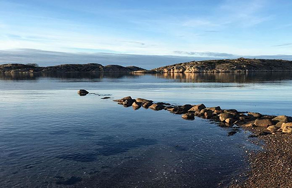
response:
<svg viewBox="0 0 292 188"><path fill-rule="evenodd" d="M23 64L4 64L0 65L0 73L64 73L64 72L103 72L103 73L128 73L138 70L145 70L139 67L123 67L120 65L102 66L97 63L89 64L63 64L49 67L34 67Z"/></svg>

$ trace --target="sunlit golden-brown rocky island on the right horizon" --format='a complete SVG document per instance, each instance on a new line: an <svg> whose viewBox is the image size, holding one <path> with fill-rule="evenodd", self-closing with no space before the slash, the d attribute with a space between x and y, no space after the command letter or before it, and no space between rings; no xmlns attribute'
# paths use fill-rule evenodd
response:
<svg viewBox="0 0 292 188"><path fill-rule="evenodd" d="M272 72L292 71L292 61L270 59L226 59L179 63L137 73Z"/></svg>

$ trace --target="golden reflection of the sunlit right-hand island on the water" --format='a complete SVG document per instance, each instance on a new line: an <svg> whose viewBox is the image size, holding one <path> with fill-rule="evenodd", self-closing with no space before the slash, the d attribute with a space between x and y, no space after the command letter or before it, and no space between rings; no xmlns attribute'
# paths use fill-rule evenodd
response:
<svg viewBox="0 0 292 188"><path fill-rule="evenodd" d="M142 75L142 74L137 74ZM226 82L256 83L292 80L292 72L250 72L250 73L157 73L157 78L172 79L176 82Z"/></svg>

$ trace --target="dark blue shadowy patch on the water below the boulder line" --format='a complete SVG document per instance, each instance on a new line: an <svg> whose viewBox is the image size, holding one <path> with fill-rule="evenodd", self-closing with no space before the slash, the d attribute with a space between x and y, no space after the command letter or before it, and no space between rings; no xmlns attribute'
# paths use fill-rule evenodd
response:
<svg viewBox="0 0 292 188"><path fill-rule="evenodd" d="M154 145L157 143L155 139L138 138L132 141L120 141L120 142L100 142L98 145L103 145L102 148L95 149L94 151L84 153L74 153L58 156L61 159L74 160L80 162L92 162L97 160L100 155L111 156L119 153L127 152L131 149L138 148L140 146Z"/></svg>

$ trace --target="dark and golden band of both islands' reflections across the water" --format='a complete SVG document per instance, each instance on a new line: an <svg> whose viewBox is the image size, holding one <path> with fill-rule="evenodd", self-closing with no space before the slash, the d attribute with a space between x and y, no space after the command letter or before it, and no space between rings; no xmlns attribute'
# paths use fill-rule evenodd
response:
<svg viewBox="0 0 292 188"><path fill-rule="evenodd" d="M131 73L3 73L0 80L39 80L52 78L60 80L100 80L103 78L139 78L149 74ZM292 79L292 72L249 72L249 73L158 73L155 78L174 80L183 83L222 82L258 83L278 82Z"/></svg>

